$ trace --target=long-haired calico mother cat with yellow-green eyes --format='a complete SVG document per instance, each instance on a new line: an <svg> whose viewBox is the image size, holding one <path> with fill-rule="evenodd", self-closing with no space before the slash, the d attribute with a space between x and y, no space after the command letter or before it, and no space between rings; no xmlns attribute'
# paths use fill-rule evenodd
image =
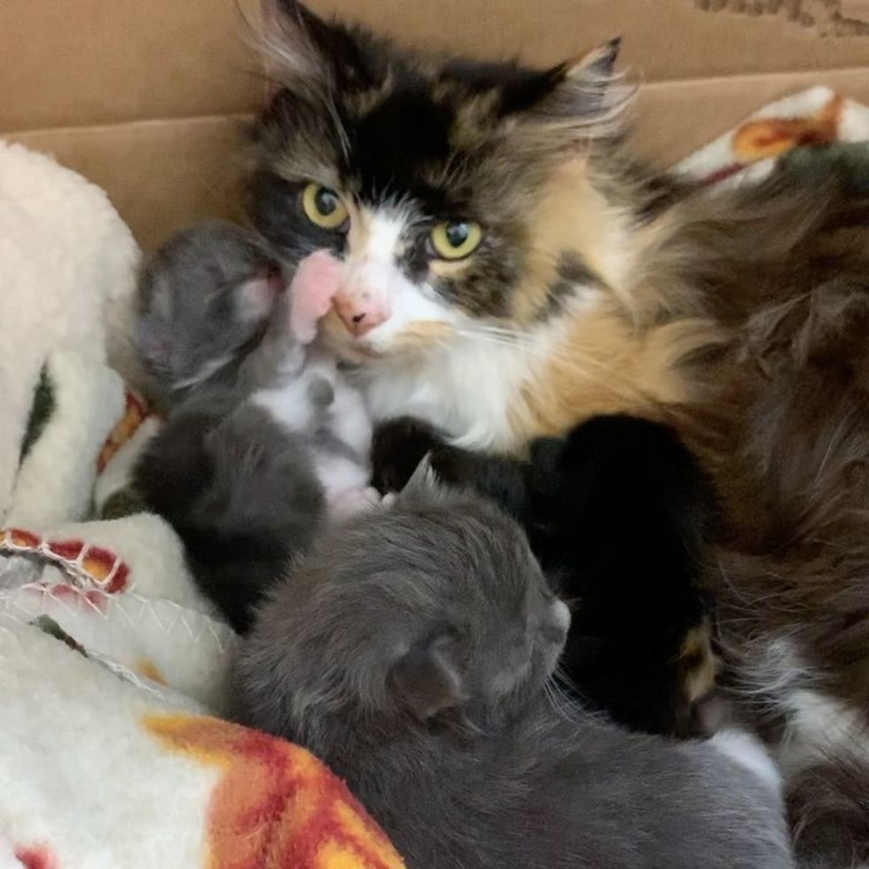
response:
<svg viewBox="0 0 869 869"><path fill-rule="evenodd" d="M676 427L722 497L732 691L783 750L869 756L865 184L662 180L630 156L615 43L535 70L266 5L250 214L332 252L324 332L375 419L520 456L599 414Z"/></svg>

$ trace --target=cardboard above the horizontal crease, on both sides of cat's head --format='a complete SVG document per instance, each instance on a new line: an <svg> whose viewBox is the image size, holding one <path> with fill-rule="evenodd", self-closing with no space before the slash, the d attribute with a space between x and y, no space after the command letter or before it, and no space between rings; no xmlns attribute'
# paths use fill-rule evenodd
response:
<svg viewBox="0 0 869 869"><path fill-rule="evenodd" d="M869 36L818 38L786 14L710 13L697 0L309 2L411 43L534 63L623 35L624 59L646 81L869 66ZM263 83L239 35L257 9L258 0L2 0L0 130L251 111Z"/></svg>

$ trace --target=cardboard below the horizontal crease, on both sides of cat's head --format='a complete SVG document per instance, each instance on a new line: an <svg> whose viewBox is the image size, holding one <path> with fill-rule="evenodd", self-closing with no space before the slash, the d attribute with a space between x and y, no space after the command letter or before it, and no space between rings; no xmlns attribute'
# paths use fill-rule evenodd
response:
<svg viewBox="0 0 869 869"><path fill-rule="evenodd" d="M869 69L650 82L634 121L638 153L662 166L772 99L826 84L869 103ZM146 248L208 215L239 217L244 116L138 121L14 136L103 186Z"/></svg>

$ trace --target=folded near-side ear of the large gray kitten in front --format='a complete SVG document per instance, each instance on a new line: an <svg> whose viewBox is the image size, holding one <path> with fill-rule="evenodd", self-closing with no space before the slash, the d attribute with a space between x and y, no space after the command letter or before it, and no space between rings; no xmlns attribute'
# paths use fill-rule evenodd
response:
<svg viewBox="0 0 869 869"><path fill-rule="evenodd" d="M391 670L390 685L397 701L419 721L466 700L455 652L455 640L442 635L412 648Z"/></svg>

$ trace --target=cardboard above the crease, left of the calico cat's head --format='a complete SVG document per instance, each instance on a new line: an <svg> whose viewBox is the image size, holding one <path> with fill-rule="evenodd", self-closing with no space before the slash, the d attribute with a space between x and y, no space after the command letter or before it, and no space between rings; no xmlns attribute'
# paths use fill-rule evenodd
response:
<svg viewBox="0 0 869 869"><path fill-rule="evenodd" d="M250 111L254 0L0 0L0 130Z"/></svg>

